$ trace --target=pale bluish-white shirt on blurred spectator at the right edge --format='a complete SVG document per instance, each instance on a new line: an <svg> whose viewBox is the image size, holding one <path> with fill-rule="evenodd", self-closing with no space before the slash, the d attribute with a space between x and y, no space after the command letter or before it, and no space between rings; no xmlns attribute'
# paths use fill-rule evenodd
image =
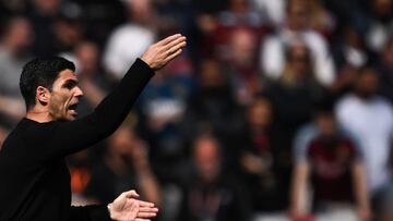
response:
<svg viewBox="0 0 393 221"><path fill-rule="evenodd" d="M347 95L337 103L336 115L342 126L358 139L364 152L369 188L377 191L389 179L392 107L378 96L364 100L355 95Z"/></svg>

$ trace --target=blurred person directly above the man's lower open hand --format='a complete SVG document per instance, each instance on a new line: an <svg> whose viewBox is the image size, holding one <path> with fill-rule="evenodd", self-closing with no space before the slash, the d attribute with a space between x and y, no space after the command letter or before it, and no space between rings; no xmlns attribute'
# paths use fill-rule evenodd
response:
<svg viewBox="0 0 393 221"><path fill-rule="evenodd" d="M120 126L108 138L104 158L93 165L84 195L107 204L127 189L138 189L143 200L159 206L160 186L148 162L147 148L129 126Z"/></svg>

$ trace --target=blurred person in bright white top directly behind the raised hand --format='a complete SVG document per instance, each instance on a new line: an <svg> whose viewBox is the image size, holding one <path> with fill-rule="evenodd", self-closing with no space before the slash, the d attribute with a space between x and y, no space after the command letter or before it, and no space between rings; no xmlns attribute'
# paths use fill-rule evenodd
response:
<svg viewBox="0 0 393 221"><path fill-rule="evenodd" d="M106 44L104 66L120 79L130 65L156 38L156 12L151 0L126 0L128 22L117 27Z"/></svg>

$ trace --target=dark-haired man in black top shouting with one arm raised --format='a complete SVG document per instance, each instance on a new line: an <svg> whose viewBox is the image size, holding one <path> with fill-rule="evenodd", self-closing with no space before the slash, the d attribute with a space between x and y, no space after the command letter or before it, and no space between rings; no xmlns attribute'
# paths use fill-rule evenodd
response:
<svg viewBox="0 0 393 221"><path fill-rule="evenodd" d="M147 221L158 211L134 191L108 206L70 207L70 175L64 157L116 131L154 71L181 53L186 38L169 36L147 48L119 86L90 115L75 120L83 96L73 63L35 59L22 72L20 87L26 116L0 151L0 220ZM110 218L110 219L109 219Z"/></svg>

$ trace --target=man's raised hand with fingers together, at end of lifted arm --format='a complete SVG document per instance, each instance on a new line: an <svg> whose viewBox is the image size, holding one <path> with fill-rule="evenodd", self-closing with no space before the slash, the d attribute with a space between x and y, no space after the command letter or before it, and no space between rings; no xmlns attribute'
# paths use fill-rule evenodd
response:
<svg viewBox="0 0 393 221"><path fill-rule="evenodd" d="M150 46L141 59L151 69L157 71L178 57L183 47L186 47L186 37L180 34L171 35Z"/></svg>

